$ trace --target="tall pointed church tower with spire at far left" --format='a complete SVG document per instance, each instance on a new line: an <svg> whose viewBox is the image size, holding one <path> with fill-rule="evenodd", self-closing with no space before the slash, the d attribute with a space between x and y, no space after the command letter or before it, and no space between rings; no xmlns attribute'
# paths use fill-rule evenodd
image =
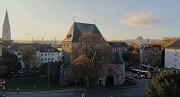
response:
<svg viewBox="0 0 180 97"><path fill-rule="evenodd" d="M9 17L8 17L8 12L6 9L6 15L4 18L4 24L2 27L2 40L3 41L11 41L11 27L9 24Z"/></svg>

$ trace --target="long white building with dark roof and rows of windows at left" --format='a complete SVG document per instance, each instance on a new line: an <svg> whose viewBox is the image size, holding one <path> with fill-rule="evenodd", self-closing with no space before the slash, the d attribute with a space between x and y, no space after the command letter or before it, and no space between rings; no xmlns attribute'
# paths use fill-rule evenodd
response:
<svg viewBox="0 0 180 97"><path fill-rule="evenodd" d="M48 62L59 62L59 50L52 47L49 44L22 44L22 43L14 43L12 52L18 57L21 67L25 68L25 63L23 61L22 52L19 50L21 46L32 46L36 49L36 67L41 66L42 64Z"/></svg>

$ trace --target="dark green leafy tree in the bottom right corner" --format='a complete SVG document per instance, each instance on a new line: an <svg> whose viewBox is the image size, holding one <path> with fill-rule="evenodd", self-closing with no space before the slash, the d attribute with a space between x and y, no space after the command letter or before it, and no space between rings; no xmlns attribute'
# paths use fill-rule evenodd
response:
<svg viewBox="0 0 180 97"><path fill-rule="evenodd" d="M147 84L150 97L180 97L180 72L166 70L154 76Z"/></svg>

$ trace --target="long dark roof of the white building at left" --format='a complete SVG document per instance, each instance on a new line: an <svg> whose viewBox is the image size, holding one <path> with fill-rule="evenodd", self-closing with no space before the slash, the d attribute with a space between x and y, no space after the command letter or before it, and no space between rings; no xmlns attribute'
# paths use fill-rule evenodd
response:
<svg viewBox="0 0 180 97"><path fill-rule="evenodd" d="M49 44L38 44L38 43L14 43L12 45L13 51L19 51L19 47L21 46L32 46L34 47L37 51L40 52L59 52L58 49L52 47Z"/></svg>

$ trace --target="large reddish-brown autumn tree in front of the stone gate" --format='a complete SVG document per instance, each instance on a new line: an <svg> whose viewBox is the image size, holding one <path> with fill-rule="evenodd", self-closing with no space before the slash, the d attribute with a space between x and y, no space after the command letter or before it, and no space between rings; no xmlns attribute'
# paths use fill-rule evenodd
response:
<svg viewBox="0 0 180 97"><path fill-rule="evenodd" d="M104 38L92 33L80 36L78 42L73 46L72 56L74 61L69 66L70 77L83 77L87 80L87 87L91 83L96 84L104 64L111 63L113 60L110 47Z"/></svg>

